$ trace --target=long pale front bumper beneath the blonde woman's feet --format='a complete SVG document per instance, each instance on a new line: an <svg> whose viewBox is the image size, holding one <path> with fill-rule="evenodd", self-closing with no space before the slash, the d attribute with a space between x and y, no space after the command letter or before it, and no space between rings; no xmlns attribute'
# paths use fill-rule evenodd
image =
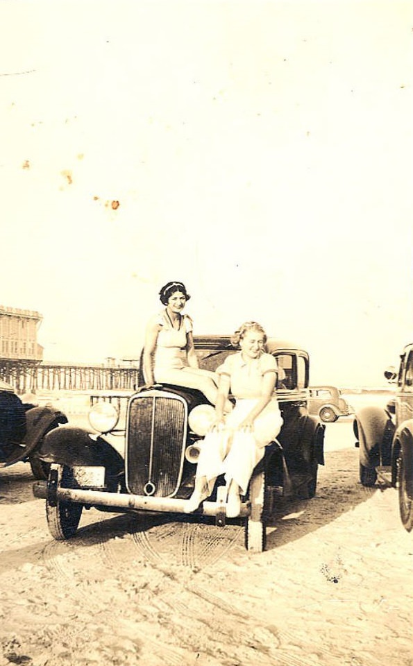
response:
<svg viewBox="0 0 413 666"><path fill-rule="evenodd" d="M48 499L47 481L33 484L33 495L40 499ZM60 502L75 502L87 506L112 506L121 511L160 511L165 513L186 513L188 499L176 497L144 497L126 493L106 493L102 490L83 490L81 488L57 488L53 496ZM53 499L54 499L53 497ZM225 509L222 502L203 502L199 513L217 516ZM195 512L194 512L195 513ZM242 502L239 517L250 515L251 502ZM188 514L190 515L190 514Z"/></svg>

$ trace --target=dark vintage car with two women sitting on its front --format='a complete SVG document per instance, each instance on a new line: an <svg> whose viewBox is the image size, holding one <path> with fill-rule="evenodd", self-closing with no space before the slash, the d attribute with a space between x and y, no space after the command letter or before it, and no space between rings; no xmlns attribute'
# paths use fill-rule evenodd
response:
<svg viewBox="0 0 413 666"><path fill-rule="evenodd" d="M230 336L195 336L195 346L201 368L208 370L236 351ZM246 548L258 552L264 548L265 524L276 498L314 496L325 429L307 411L307 352L273 339L267 350L281 368L276 390L284 425L255 468L238 517L245 523ZM33 492L46 499L54 538L74 536L83 507L185 513L212 407L199 391L143 384L140 377L140 386L126 397L93 395L90 431L65 426L44 439L41 456L51 463L51 472ZM196 513L225 524L223 479Z"/></svg>

